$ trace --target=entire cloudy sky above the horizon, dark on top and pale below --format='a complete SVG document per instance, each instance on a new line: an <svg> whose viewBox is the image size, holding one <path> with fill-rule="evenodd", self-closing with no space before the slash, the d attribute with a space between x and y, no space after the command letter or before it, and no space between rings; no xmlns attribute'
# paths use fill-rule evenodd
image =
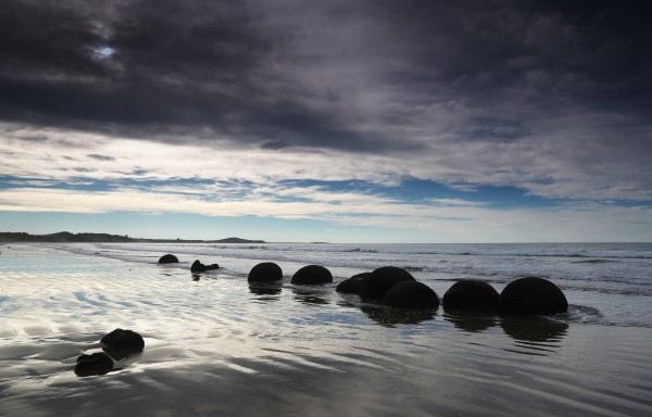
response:
<svg viewBox="0 0 652 417"><path fill-rule="evenodd" d="M0 231L651 241L647 8L3 0Z"/></svg>

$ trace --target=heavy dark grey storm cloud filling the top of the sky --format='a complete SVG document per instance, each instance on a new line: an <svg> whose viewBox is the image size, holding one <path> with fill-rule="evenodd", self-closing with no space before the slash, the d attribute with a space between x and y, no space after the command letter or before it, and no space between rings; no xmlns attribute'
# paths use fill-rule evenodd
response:
<svg viewBox="0 0 652 417"><path fill-rule="evenodd" d="M441 136L517 140L568 114L611 112L644 125L652 59L643 7L5 0L0 117L168 141L373 152L419 150Z"/></svg>

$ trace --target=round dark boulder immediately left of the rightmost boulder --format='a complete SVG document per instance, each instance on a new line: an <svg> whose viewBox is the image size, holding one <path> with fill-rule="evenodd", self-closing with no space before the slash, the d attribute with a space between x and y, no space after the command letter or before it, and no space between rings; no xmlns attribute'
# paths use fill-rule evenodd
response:
<svg viewBox="0 0 652 417"><path fill-rule="evenodd" d="M478 279L462 279L443 294L443 308L494 311L500 294L493 287Z"/></svg>

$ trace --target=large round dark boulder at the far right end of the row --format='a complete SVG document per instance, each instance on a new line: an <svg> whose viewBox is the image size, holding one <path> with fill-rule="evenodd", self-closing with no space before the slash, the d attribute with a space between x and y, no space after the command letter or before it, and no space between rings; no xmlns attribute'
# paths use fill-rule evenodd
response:
<svg viewBox="0 0 652 417"><path fill-rule="evenodd" d="M500 294L499 308L510 314L555 314L568 309L568 301L557 286L539 277L510 282Z"/></svg>

